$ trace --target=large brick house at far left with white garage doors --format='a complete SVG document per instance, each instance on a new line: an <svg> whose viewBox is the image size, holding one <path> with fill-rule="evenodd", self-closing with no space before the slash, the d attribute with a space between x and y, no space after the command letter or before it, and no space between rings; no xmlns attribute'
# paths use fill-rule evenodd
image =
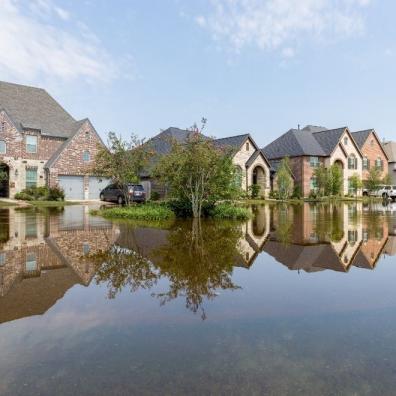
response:
<svg viewBox="0 0 396 396"><path fill-rule="evenodd" d="M66 199L97 199L107 181L90 175L98 144L88 119L76 121L44 89L0 82L0 197L60 186Z"/></svg>

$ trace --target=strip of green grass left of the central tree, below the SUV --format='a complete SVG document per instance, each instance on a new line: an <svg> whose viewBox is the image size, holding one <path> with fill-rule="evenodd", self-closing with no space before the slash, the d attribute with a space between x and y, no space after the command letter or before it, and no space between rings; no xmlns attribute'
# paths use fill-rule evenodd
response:
<svg viewBox="0 0 396 396"><path fill-rule="evenodd" d="M106 219L127 219L127 220L147 220L161 221L175 217L175 214L166 206L146 204L116 207L102 210L92 210L94 216L102 216Z"/></svg>

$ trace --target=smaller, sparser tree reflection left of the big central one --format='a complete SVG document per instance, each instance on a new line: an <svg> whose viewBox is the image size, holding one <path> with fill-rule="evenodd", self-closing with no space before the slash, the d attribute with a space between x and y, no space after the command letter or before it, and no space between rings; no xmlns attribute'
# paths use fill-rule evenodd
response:
<svg viewBox="0 0 396 396"><path fill-rule="evenodd" d="M131 292L150 289L159 277L149 260L129 249L113 246L92 258L96 263L96 283L107 282L109 298L127 286Z"/></svg>

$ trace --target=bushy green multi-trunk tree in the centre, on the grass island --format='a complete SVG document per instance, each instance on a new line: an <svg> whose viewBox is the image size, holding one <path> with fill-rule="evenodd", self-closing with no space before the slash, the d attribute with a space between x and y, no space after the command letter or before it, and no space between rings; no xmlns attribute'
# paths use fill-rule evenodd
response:
<svg viewBox="0 0 396 396"><path fill-rule="evenodd" d="M171 145L170 153L159 159L154 175L172 197L187 203L193 217L202 216L205 202L213 205L240 193L229 150L216 147L196 128L184 143L173 140Z"/></svg>

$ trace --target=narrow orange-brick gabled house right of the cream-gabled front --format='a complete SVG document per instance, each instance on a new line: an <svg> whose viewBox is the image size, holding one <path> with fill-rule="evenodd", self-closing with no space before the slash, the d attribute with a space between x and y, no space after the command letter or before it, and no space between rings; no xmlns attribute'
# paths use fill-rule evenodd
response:
<svg viewBox="0 0 396 396"><path fill-rule="evenodd" d="M370 169L375 167L381 171L381 178L388 174L388 155L374 129L352 132L356 144L363 155L362 180L368 179Z"/></svg>

